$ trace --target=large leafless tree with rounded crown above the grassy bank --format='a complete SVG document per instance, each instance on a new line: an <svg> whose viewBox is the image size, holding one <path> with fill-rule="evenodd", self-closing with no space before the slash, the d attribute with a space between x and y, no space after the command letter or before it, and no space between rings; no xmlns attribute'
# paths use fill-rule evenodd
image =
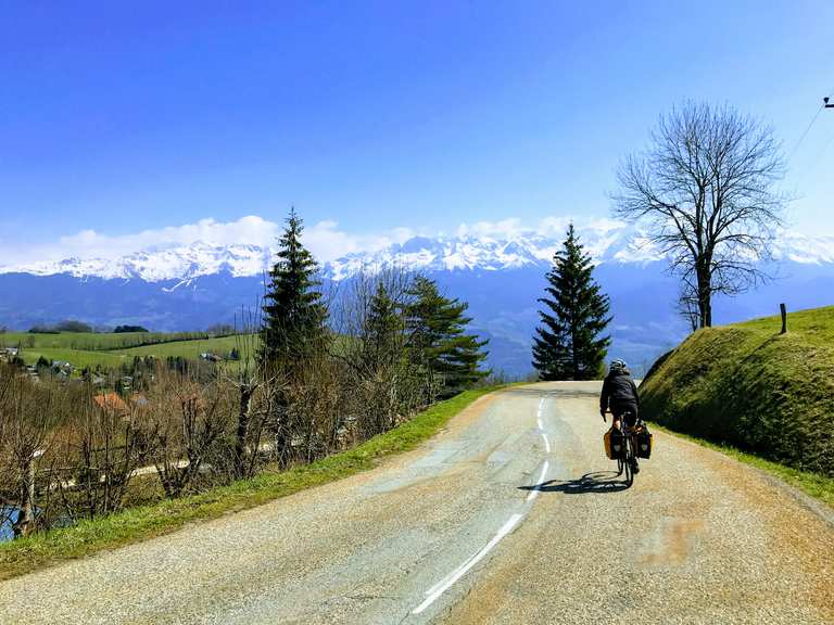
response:
<svg viewBox="0 0 834 625"><path fill-rule="evenodd" d="M685 311L695 297L698 327L712 324L715 294L767 279L761 262L782 222L786 197L774 184L784 169L771 128L693 102L661 117L648 150L620 166L615 213L647 224L684 281Z"/></svg>

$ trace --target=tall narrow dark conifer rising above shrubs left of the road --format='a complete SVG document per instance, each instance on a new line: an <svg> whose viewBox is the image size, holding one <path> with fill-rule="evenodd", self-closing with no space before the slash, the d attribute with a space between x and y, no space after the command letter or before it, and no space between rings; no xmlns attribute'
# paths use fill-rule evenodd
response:
<svg viewBox="0 0 834 625"><path fill-rule="evenodd" d="M302 245L304 230L295 208L278 241L278 260L269 271L260 357L270 366L292 366L327 339L327 307L316 279L318 265Z"/></svg>

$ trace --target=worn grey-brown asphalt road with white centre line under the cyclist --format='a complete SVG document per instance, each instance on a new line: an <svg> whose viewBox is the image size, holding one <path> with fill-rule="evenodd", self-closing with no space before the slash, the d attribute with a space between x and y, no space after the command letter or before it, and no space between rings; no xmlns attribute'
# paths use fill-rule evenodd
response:
<svg viewBox="0 0 834 625"><path fill-rule="evenodd" d="M374 471L5 582L0 623L834 623L826 510L662 434L623 488L597 391L493 394Z"/></svg>

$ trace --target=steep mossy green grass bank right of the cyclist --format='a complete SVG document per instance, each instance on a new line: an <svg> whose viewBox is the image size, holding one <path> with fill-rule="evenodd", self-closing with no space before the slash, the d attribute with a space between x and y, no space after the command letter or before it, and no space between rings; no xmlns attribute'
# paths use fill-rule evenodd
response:
<svg viewBox="0 0 834 625"><path fill-rule="evenodd" d="M709 328L641 385L646 418L797 470L834 476L834 306Z"/></svg>

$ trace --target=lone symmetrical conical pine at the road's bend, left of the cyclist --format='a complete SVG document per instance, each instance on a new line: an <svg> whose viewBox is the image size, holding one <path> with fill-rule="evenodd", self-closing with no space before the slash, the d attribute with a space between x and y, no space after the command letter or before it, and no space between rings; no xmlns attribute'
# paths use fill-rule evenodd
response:
<svg viewBox="0 0 834 625"><path fill-rule="evenodd" d="M548 297L533 339L533 367L542 380L593 380L602 373L610 336L601 336L611 321L610 303L593 279L591 256L579 242L573 224L547 272Z"/></svg>

